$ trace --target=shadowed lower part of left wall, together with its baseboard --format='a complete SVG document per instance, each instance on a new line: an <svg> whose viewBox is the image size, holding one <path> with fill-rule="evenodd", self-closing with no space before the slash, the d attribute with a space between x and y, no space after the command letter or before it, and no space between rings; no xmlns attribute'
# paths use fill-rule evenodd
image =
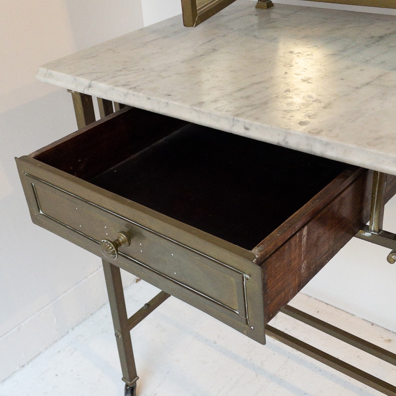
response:
<svg viewBox="0 0 396 396"><path fill-rule="evenodd" d="M31 222L14 160L76 129L70 94L57 89L5 111L0 126L1 382L107 297L98 257Z"/></svg>

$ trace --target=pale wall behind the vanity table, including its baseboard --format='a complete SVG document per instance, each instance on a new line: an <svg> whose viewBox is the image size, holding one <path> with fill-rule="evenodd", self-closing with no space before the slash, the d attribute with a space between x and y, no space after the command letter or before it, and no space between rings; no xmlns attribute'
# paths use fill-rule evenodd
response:
<svg viewBox="0 0 396 396"><path fill-rule="evenodd" d="M0 381L107 300L100 260L30 221L13 157L76 129L69 94L37 82L36 69L179 13L180 0L2 2ZM395 231L396 199L386 207L385 217L385 229ZM386 262L387 253L387 249L353 240L304 291L396 331L392 281L396 265Z"/></svg>

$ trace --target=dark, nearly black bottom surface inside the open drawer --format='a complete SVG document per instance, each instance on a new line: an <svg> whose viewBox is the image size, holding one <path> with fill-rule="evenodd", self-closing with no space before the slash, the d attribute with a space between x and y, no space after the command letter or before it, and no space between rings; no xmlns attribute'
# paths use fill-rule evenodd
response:
<svg viewBox="0 0 396 396"><path fill-rule="evenodd" d="M187 124L90 182L251 250L346 168Z"/></svg>

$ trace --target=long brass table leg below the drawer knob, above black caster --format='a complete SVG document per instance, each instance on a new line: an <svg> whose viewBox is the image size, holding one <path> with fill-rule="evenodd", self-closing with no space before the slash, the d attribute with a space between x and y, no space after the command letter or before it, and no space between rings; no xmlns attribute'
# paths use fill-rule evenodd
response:
<svg viewBox="0 0 396 396"><path fill-rule="evenodd" d="M122 381L129 386L133 386L139 377L136 373L135 358L133 357L121 272L116 265L110 264L105 260L102 261L118 354L120 355Z"/></svg>

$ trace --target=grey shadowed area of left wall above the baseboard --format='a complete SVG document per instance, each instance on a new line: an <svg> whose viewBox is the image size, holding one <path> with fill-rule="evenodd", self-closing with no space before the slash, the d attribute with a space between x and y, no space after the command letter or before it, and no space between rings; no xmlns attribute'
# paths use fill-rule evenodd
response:
<svg viewBox="0 0 396 396"><path fill-rule="evenodd" d="M75 124L65 90L0 114L0 337L100 267L100 260L31 223L14 160L71 133ZM84 265L73 263L73 255Z"/></svg>

